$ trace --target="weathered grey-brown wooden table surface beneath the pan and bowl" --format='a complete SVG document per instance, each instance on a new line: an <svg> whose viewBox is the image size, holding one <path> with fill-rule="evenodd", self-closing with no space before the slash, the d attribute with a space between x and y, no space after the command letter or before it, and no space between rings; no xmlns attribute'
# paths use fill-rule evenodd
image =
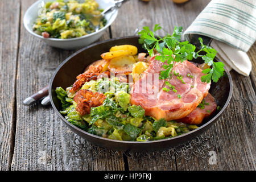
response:
<svg viewBox="0 0 256 182"><path fill-rule="evenodd" d="M212 137L216 164L192 156L186 160L114 155L101 152L67 129L51 106L22 101L49 83L57 66L75 51L51 48L24 28L24 12L35 0L0 1L0 169L1 170L255 170L256 44L248 55L249 77L232 71L233 97L222 117L202 136ZM132 35L136 28L159 23L168 32L192 23L209 0L175 5L171 0L127 2L101 40ZM96 152L98 154L96 154ZM100 154L100 155L99 155Z"/></svg>

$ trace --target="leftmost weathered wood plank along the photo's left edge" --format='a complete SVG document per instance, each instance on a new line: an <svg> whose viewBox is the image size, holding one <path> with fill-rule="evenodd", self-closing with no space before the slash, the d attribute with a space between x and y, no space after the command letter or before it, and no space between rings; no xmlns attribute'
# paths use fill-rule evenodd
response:
<svg viewBox="0 0 256 182"><path fill-rule="evenodd" d="M19 1L0 2L0 170L10 168L13 156L19 16Z"/></svg>

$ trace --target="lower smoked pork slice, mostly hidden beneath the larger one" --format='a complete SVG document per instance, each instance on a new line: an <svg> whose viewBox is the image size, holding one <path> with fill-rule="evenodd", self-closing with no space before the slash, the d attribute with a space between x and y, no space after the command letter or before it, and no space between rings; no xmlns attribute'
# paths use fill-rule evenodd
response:
<svg viewBox="0 0 256 182"><path fill-rule="evenodd" d="M214 111L216 111L217 104L213 98L213 96L208 93L208 95L204 98L205 105L204 109L200 109L200 107L196 107L192 113L188 114L185 118L181 118L176 120L177 122L187 123L189 125L200 125L204 118L208 118Z"/></svg>

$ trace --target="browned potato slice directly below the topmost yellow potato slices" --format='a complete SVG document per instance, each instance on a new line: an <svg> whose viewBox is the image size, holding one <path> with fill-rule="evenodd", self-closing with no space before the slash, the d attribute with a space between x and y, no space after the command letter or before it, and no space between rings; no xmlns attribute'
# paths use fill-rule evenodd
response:
<svg viewBox="0 0 256 182"><path fill-rule="evenodd" d="M135 59L131 55L124 55L114 57L110 60L109 71L115 74L129 75L133 71L133 64L136 63Z"/></svg>

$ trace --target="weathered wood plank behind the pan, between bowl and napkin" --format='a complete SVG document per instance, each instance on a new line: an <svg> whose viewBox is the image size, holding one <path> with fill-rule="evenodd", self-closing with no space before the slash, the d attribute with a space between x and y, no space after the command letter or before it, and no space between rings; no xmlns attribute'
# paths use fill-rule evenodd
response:
<svg viewBox="0 0 256 182"><path fill-rule="evenodd" d="M126 2L112 24L113 38L133 35L136 28L139 30L144 26L152 28L154 24L160 24L170 33L175 26L182 26L185 30L209 2L209 0L189 1L182 5L169 0ZM166 35L166 33L160 31L159 35Z"/></svg>

